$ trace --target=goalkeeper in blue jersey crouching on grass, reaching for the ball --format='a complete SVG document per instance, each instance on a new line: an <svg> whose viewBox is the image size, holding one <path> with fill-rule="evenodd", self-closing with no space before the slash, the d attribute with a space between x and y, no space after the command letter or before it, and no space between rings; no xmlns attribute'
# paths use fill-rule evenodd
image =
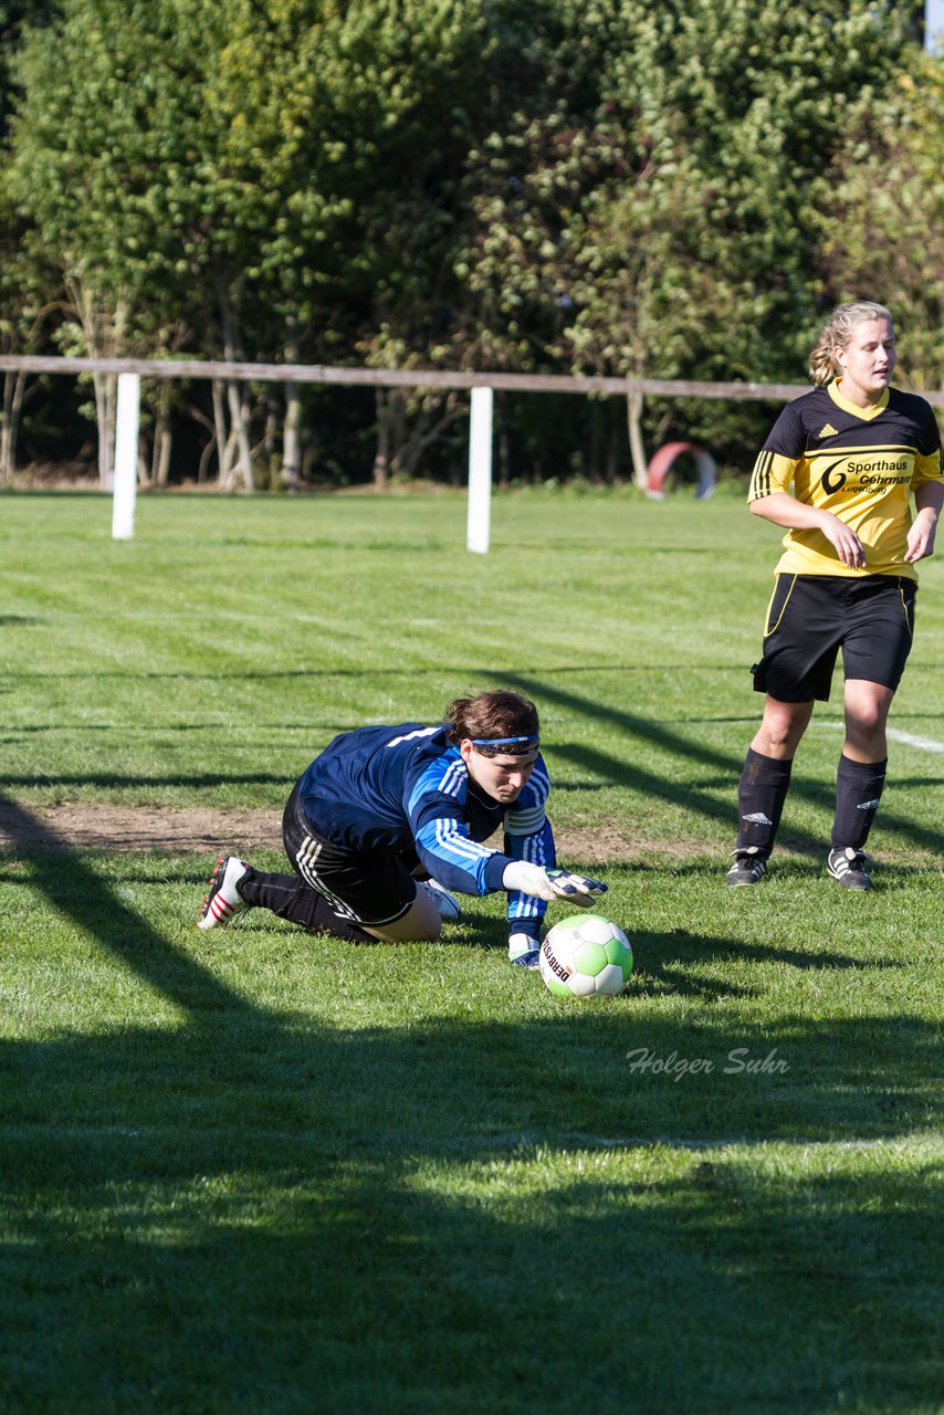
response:
<svg viewBox="0 0 944 1415"><path fill-rule="evenodd" d="M282 819L293 874L232 855L209 880L198 928L269 908L351 942L439 938L449 893L508 891L508 958L538 966L549 903L590 908L606 884L555 869L538 710L519 693L460 698L434 727L361 727L316 757ZM498 828L501 850L481 845Z"/></svg>

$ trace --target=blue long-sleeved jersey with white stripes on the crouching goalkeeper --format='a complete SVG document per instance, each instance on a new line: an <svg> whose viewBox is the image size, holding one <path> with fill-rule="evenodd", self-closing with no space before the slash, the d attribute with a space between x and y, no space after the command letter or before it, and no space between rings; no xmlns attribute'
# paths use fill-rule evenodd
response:
<svg viewBox="0 0 944 1415"><path fill-rule="evenodd" d="M324 839L367 853L416 853L446 889L488 894L502 889L510 860L555 865L545 814L551 782L543 757L511 805L470 778L449 723L361 727L335 737L301 777L301 808ZM484 845L502 829L502 849ZM545 903L518 890L508 923L535 932Z"/></svg>

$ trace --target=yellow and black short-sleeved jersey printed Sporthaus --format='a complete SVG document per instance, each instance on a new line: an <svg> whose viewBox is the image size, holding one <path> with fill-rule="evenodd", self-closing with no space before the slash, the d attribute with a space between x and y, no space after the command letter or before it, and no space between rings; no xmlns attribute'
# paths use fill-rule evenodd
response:
<svg viewBox="0 0 944 1415"><path fill-rule="evenodd" d="M787 574L899 574L911 525L909 491L944 481L941 434L930 403L886 389L856 408L835 383L788 403L770 430L750 478L749 501L788 491L839 516L865 546L863 570L842 565L821 531L790 531L777 572Z"/></svg>

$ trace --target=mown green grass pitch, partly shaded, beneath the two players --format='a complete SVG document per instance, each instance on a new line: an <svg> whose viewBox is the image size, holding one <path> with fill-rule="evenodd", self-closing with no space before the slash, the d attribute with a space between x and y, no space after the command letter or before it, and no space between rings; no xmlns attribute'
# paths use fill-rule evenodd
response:
<svg viewBox="0 0 944 1415"><path fill-rule="evenodd" d="M464 516L153 497L115 543L0 497L0 1415L944 1409L944 566L879 887L822 867L834 700L729 891L777 533L535 491L473 556ZM510 969L498 897L436 945L204 935L212 853L50 848L58 807L277 821L334 733L500 685L620 999Z"/></svg>

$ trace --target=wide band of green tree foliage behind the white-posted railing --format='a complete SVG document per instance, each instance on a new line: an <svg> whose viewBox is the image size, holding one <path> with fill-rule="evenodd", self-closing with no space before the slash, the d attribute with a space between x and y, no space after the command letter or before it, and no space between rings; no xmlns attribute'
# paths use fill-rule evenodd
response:
<svg viewBox="0 0 944 1415"><path fill-rule="evenodd" d="M869 283L928 386L941 61L913 8L0 6L4 333L25 347L38 307L71 354L794 382L824 303ZM245 403L272 460L272 400ZM382 399L375 466L451 467L454 412ZM647 410L651 440L757 432L750 408Z"/></svg>

